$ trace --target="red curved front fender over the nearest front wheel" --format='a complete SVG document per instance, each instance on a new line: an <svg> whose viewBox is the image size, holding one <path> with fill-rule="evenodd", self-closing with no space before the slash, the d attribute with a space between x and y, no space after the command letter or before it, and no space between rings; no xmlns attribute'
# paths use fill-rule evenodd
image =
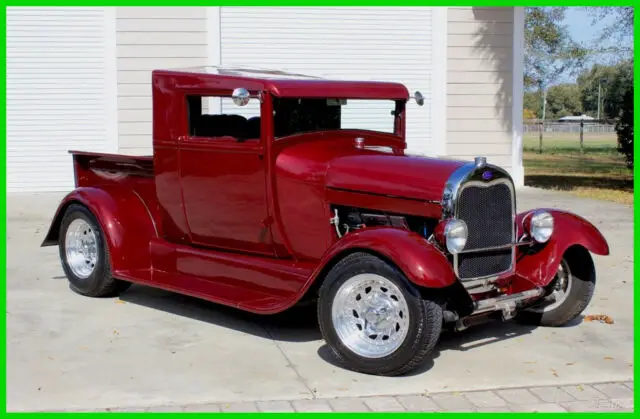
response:
<svg viewBox="0 0 640 419"><path fill-rule="evenodd" d="M384 257L420 287L444 288L457 281L451 264L436 247L419 234L390 227L364 228L347 234L327 250L316 276L354 251Z"/></svg>

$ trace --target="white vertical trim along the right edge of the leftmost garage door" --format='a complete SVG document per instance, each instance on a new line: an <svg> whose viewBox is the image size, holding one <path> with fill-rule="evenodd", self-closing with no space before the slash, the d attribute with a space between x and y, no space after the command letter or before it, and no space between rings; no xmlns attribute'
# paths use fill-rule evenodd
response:
<svg viewBox="0 0 640 419"><path fill-rule="evenodd" d="M118 67L116 54L116 7L104 8L105 38L105 126L107 127L107 152L117 153L118 136Z"/></svg>

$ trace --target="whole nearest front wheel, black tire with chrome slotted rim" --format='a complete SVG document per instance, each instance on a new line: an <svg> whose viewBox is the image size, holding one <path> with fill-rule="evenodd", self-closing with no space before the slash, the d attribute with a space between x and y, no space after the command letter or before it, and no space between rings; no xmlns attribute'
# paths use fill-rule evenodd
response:
<svg viewBox="0 0 640 419"><path fill-rule="evenodd" d="M328 346L349 368L393 376L415 369L433 351L442 308L387 262L354 253L327 275L318 321Z"/></svg>

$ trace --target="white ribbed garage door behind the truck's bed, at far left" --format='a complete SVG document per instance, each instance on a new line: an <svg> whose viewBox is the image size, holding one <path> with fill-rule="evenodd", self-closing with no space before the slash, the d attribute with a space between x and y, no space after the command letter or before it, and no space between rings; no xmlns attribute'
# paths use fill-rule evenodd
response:
<svg viewBox="0 0 640 419"><path fill-rule="evenodd" d="M68 150L115 149L111 13L7 8L9 192L69 190Z"/></svg>

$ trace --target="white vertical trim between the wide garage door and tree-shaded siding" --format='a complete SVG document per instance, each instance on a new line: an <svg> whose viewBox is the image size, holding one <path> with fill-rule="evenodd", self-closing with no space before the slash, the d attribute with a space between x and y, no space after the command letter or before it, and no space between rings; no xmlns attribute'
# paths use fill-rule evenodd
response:
<svg viewBox="0 0 640 419"><path fill-rule="evenodd" d="M432 8L431 138L436 156L447 153L447 7Z"/></svg>

